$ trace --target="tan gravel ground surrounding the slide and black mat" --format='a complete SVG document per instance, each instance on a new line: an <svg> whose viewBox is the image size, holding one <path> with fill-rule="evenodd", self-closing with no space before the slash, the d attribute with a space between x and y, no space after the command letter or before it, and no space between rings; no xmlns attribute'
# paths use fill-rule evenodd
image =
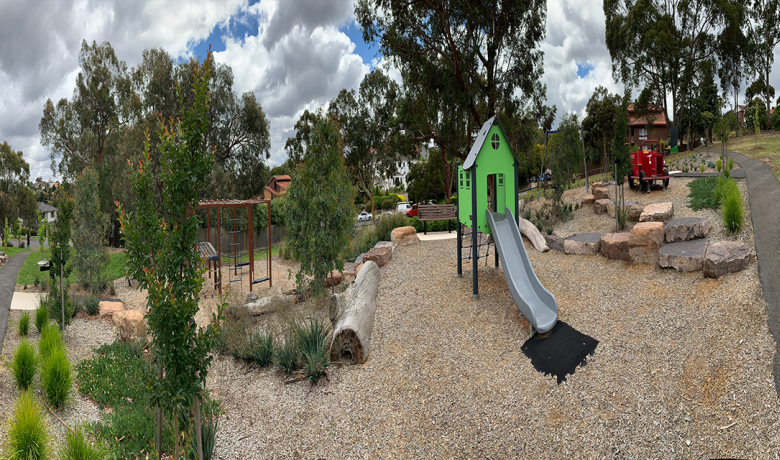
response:
<svg viewBox="0 0 780 460"><path fill-rule="evenodd" d="M658 194L660 195L660 194ZM250 458L767 458L780 450L757 265L718 280L527 246L559 317L600 341L566 382L533 369L501 269L455 277L455 242L382 269L366 364L326 384L219 357L217 453ZM466 275L470 265L464 264ZM639 287L637 287L639 286Z"/></svg>

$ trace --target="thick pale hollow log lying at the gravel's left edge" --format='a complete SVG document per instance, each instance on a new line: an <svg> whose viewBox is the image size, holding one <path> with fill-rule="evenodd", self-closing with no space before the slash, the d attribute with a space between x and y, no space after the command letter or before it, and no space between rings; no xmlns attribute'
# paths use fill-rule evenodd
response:
<svg viewBox="0 0 780 460"><path fill-rule="evenodd" d="M334 323L331 360L363 364L368 359L381 273L376 263L368 261L346 292L331 296L328 307Z"/></svg>

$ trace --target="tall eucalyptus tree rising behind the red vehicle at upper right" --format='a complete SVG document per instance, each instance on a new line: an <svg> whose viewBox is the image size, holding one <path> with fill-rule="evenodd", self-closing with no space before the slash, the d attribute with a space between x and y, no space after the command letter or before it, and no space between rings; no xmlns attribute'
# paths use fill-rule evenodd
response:
<svg viewBox="0 0 780 460"><path fill-rule="evenodd" d="M740 0L604 0L606 41L616 81L652 96L667 127L681 128L701 64L716 57Z"/></svg>

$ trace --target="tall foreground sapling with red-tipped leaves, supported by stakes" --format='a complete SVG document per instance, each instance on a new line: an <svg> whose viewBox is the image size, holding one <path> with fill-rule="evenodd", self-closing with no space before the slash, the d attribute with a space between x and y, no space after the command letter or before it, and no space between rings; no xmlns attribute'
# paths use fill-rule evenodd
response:
<svg viewBox="0 0 780 460"><path fill-rule="evenodd" d="M140 160L135 164L128 159L136 211L125 213L116 203L127 243L128 274L148 292L146 318L162 376L148 383L151 404L173 413L177 433L180 412L194 410L200 418L196 408L204 397L203 387L213 359L210 352L226 306L223 297L211 324L196 326L204 269L195 249L198 217L191 210L197 208L199 191L214 164L213 151L205 141L212 67L209 52L203 64L193 70L191 93L186 96L189 106L184 104L185 90L177 89L183 116L168 124L160 120L159 155L151 155L147 131ZM167 167L155 167L158 156L159 163ZM158 447L158 451L164 450ZM181 442L176 436L174 458L179 458L180 452Z"/></svg>

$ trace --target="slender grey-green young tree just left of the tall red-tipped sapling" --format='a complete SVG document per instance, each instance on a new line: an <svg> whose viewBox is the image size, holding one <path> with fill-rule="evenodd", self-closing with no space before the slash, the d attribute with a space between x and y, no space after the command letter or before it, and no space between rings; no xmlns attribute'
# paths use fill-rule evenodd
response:
<svg viewBox="0 0 780 460"><path fill-rule="evenodd" d="M95 292L108 266L108 250L103 245L108 232L108 215L100 211L98 174L86 169L76 179L73 208L73 265L83 287Z"/></svg>

